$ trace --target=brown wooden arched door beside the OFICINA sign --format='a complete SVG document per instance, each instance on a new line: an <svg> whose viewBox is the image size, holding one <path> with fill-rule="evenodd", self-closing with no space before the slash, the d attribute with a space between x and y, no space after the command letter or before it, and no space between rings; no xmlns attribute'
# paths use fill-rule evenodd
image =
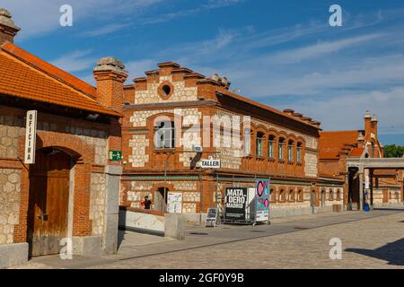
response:
<svg viewBox="0 0 404 287"><path fill-rule="evenodd" d="M30 257L59 253L59 240L67 237L71 167L72 157L60 149L48 147L36 152L30 168Z"/></svg>

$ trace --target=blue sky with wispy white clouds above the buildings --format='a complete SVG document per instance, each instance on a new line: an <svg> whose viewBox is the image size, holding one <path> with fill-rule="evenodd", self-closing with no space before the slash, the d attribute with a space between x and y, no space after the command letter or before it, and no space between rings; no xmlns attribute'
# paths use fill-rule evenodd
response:
<svg viewBox="0 0 404 287"><path fill-rule="evenodd" d="M71 4L74 26L59 25ZM329 26L340 4L343 26ZM97 59L118 57L130 79L176 61L217 72L231 89L320 120L363 129L379 117L382 143L404 145L404 4L385 1L0 0L22 28L16 43L93 83Z"/></svg>

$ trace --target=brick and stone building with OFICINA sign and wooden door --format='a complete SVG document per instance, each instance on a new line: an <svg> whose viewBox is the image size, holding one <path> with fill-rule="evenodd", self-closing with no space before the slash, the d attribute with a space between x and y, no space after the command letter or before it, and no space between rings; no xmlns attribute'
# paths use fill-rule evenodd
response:
<svg viewBox="0 0 404 287"><path fill-rule="evenodd" d="M123 65L103 58L97 87L13 44L0 9L0 267L59 253L117 250ZM24 163L27 110L37 110L36 156Z"/></svg>

